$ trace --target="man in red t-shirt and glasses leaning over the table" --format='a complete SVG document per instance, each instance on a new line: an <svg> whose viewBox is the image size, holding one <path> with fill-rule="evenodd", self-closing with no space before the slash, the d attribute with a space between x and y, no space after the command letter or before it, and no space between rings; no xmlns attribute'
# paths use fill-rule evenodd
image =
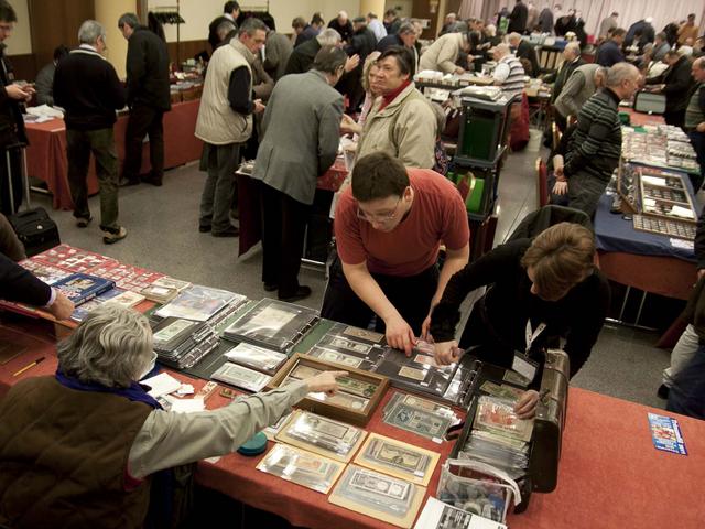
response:
<svg viewBox="0 0 705 529"><path fill-rule="evenodd" d="M425 335L431 309L467 264L470 231L455 186L427 169L406 169L383 152L361 158L335 210L338 258L323 317L377 328L408 354ZM441 241L446 259L438 272Z"/></svg>

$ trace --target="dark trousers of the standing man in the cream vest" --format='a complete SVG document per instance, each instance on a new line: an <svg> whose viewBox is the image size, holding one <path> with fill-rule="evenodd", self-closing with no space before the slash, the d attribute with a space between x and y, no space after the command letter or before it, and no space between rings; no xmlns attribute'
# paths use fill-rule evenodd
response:
<svg viewBox="0 0 705 529"><path fill-rule="evenodd" d="M235 196L235 172L240 163L240 143L203 144L200 170L208 172L200 195L200 226L210 226L214 234L227 230L230 206Z"/></svg>

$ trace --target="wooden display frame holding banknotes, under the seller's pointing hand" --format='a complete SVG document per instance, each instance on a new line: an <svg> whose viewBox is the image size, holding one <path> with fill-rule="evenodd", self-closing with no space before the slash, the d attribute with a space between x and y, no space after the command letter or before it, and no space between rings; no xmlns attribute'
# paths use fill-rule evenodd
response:
<svg viewBox="0 0 705 529"><path fill-rule="evenodd" d="M316 393L321 396L316 398L313 397L313 393L308 393L308 396L296 404L296 408L357 427L367 425L389 387L389 378L382 375L351 367L344 368L338 364L319 360L318 358L296 353L280 368L279 373L272 377L267 385L267 389L274 389L283 385L292 377L292 374L294 374L293 378L299 378L295 376L295 371L297 369L305 371L307 368L316 371L339 371L344 369L348 371L348 376L345 377L345 379L350 379L357 385L357 388L350 388L346 391L346 388L341 386L340 390L334 397ZM311 374L313 374L313 371ZM338 382L340 384L340 379L338 379ZM369 393L369 391L361 392L360 389L364 386L373 386L375 390L371 393ZM356 390L357 392L355 392ZM349 402L348 406L346 406L346 401Z"/></svg>

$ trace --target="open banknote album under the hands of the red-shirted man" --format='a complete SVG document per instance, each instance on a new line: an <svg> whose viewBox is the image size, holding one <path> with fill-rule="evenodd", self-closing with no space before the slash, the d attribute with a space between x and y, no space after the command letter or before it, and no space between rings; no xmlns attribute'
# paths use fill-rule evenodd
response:
<svg viewBox="0 0 705 529"><path fill-rule="evenodd" d="M420 341L410 357L387 345L373 331L336 323L306 352L325 361L388 377L392 386L423 392L453 404L464 404L477 373L473 363L438 366L433 346Z"/></svg>

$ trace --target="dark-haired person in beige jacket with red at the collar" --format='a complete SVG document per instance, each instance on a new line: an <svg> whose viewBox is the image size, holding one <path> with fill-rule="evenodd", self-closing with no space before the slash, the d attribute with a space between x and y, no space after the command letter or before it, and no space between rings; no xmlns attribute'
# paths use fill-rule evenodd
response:
<svg viewBox="0 0 705 529"><path fill-rule="evenodd" d="M413 57L401 46L392 46L377 60L370 87L381 96L360 127L343 117L340 130L360 136L357 159L386 152L408 168L432 169L435 163L436 118L431 104L415 88Z"/></svg>

